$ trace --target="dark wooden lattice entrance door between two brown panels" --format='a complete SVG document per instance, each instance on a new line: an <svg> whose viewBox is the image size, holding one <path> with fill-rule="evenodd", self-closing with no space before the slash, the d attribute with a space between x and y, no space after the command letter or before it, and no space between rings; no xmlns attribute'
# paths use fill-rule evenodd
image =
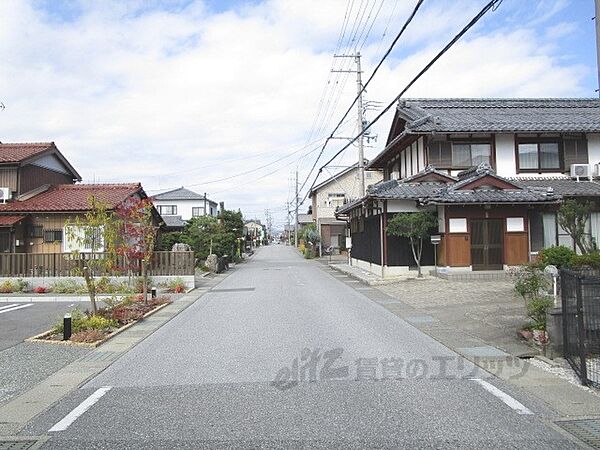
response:
<svg viewBox="0 0 600 450"><path fill-rule="evenodd" d="M502 219L471 220L471 264L473 270L503 268Z"/></svg>

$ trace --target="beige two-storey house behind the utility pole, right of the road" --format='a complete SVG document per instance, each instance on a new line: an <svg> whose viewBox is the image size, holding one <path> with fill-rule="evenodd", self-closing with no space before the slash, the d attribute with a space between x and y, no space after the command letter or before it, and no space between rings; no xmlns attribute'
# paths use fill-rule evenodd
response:
<svg viewBox="0 0 600 450"><path fill-rule="evenodd" d="M347 223L337 219L335 213L338 208L360 197L358 177L358 164L354 164L311 189L312 221L321 236L321 249L332 247L339 250L345 247ZM379 171L365 171L365 185L378 183L382 177Z"/></svg>

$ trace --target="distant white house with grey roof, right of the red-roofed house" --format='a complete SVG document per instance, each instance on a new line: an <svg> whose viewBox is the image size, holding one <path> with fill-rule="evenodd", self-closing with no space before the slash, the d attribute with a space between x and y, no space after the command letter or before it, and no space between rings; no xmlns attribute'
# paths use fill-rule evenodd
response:
<svg viewBox="0 0 600 450"><path fill-rule="evenodd" d="M181 231L192 217L217 216L217 202L183 186L152 197L169 231Z"/></svg>

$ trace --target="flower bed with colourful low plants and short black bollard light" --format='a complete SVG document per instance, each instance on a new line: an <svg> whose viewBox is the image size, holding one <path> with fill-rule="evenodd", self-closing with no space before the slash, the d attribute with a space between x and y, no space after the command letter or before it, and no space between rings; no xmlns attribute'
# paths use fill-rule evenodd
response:
<svg viewBox="0 0 600 450"><path fill-rule="evenodd" d="M54 328L34 336L28 341L50 342L60 344L84 345L97 347L115 334L129 328L138 320L153 314L172 303L170 297L159 296L148 298L145 303L142 295L130 295L121 301L108 301L107 306L98 309L96 314L75 308L71 311L72 335L68 341L63 340L63 322Z"/></svg>

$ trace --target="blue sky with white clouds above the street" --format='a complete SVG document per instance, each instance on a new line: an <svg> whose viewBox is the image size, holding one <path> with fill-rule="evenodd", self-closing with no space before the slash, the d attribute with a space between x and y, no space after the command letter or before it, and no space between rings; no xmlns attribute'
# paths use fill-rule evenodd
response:
<svg viewBox="0 0 600 450"><path fill-rule="evenodd" d="M366 100L387 103L485 3L425 0ZM282 223L290 172L306 176L355 95L352 76L331 74L333 53L360 47L369 75L413 5L3 0L0 140L55 141L86 181L185 185ZM593 0L504 0L409 96L596 96L593 15ZM358 44L339 39L345 17ZM353 132L351 120L341 133Z"/></svg>

